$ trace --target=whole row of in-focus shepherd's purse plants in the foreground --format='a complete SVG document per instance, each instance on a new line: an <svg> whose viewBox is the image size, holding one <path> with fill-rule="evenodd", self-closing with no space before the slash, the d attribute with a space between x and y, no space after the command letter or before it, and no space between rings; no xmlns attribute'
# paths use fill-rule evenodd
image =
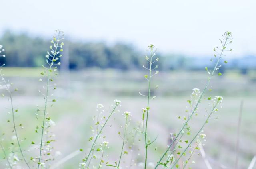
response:
<svg viewBox="0 0 256 169"><path fill-rule="evenodd" d="M50 129L55 123L51 118L49 112L49 107L56 102L53 91L57 89L57 85L54 82L56 75L58 75L58 66L60 65L60 58L62 57L63 51L63 39L64 33L60 30L56 31L52 41L50 42L50 50L47 52L45 58L46 63L42 65L42 76L39 81L43 84L42 89L39 90L39 93L42 94L44 98L43 106L37 106L36 110L36 119L38 120L38 125L35 126L34 132L39 136L39 141L30 140L30 148L22 147L21 142L27 141L22 139L19 135L20 129L24 129L24 125L17 122L17 114L21 115L18 107L15 105L12 92L18 91L18 88L14 87L14 84L10 83L4 77L2 67L5 64L1 63L0 65L0 78L1 78L1 88L4 89L2 97L8 98L8 119L7 122L12 126L12 132L8 135L12 135L12 139L8 138L8 135L2 132L0 140L0 148L2 149L4 159L6 161L6 168L8 169L18 169L18 168L28 168L28 169L48 169L51 168L52 164L55 162L55 156L53 155L54 147L51 144L58 140L55 138L54 133ZM145 98L145 105L142 110L140 123L132 130L129 128L134 124L130 112L124 111L122 114L122 119L120 119L121 130L113 134L113 137L120 138L120 147L115 146L115 151L113 154L110 154L109 148L112 146L108 142L108 137L104 135L106 128L112 126L110 124L115 117L120 114L121 101L114 100L112 104L105 109L104 105L97 104L96 112L97 114L93 116L93 124L90 126L92 134L84 135L85 140L88 140L89 147L81 147L79 150L81 156L80 163L78 163L73 168L79 169L100 169L100 168L144 168L144 169L185 169L190 167L194 161L192 161L192 155L196 151L200 150L200 146L204 145L206 140L206 134L204 134L204 126L212 120L214 116L221 108L223 102L222 96L206 96L206 91L211 90L209 88L212 77L222 76L222 73L219 71L222 64L227 63L225 59L226 51L232 51L228 48L228 45L232 43L232 33L225 32L220 39L220 47L214 48L214 57L210 60L213 62L214 67L212 69L205 67L207 79L202 91L199 88L193 88L190 95L190 99L187 100L187 114L184 116L178 116L177 120L182 120L183 124L177 132L170 134L170 143L167 145L166 149L163 152L159 152L159 159L155 159L155 163L149 162L151 160L152 154L148 150L150 145L155 145L158 136L155 136L154 139L150 139L150 130L148 128L150 122L152 121L152 114L157 113L152 111L151 102L156 99L156 96L152 95L152 91L156 90L159 86L153 86L152 80L154 76L159 74L157 49L154 45L150 44L148 46L148 53L145 55L146 65L142 67L146 69L148 73L144 75L144 79L147 81L147 92L139 92L140 96ZM6 57L4 53L5 50L2 45L0 45L0 57ZM198 130L194 130L191 125L191 120L199 114L199 105L203 101L208 103L208 108L206 109L205 119L200 124ZM135 113L135 112L133 112ZM160 113L160 112L158 112ZM172 112L170 112L171 114ZM117 115L116 115L117 114ZM113 128L108 128L108 130L113 131ZM115 132L113 132L115 133ZM140 138L142 135L142 139ZM136 139L138 138L138 139ZM129 153L134 151L133 146L136 143L136 140L142 140L143 145L138 149L142 149L143 153L140 155L138 161L134 161L136 157L135 153ZM138 143L138 146L141 144ZM34 151L31 151L34 149ZM27 150L26 150L27 149ZM157 145L155 147L157 151ZM36 154L36 155L35 155ZM132 155L130 157L129 155ZM53 165L56 166L56 165ZM58 166L57 168L62 168Z"/></svg>

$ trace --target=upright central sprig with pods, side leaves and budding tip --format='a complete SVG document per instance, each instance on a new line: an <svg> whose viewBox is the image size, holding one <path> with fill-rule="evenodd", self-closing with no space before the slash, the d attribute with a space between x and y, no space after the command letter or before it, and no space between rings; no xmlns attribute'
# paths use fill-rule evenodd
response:
<svg viewBox="0 0 256 169"><path fill-rule="evenodd" d="M148 57L147 55L145 55L145 59L146 59L146 60L148 61L148 63L149 63L149 68L147 68L147 67L145 67L145 66L143 65L143 67L144 67L145 69L147 69L147 70L148 70L148 73L149 73L149 75L144 75L144 77L145 77L145 78L147 79L147 81L148 81L148 95L146 96L146 95L143 95L143 94L141 94L141 93L139 92L139 94L140 94L141 96L146 96L146 97L147 97L147 107L142 109L142 121L143 121L144 140L145 140L145 164L144 164L144 165L145 165L145 166L144 166L145 169L146 169L146 166L147 166L148 146L154 142L154 141L151 142L150 140L148 140L148 136L147 136L147 130L148 130L148 113L149 113L149 109L150 109L150 100L156 98L156 96L153 96L152 98L150 97L150 93L151 93L151 78L152 78L154 75L156 75L156 74L159 73L159 71L156 70L155 73L152 74L152 71L154 71L155 69L158 68L158 65L156 65L154 68L152 68L152 65L153 65L155 62L157 62L157 61L159 60L159 58L156 58L155 60L153 60L153 59L154 59L154 56L156 55L157 49L155 49L155 46L151 44L151 45L148 46L148 50L149 50L149 52L150 52L150 57ZM146 118L146 122L145 122L146 124L144 123L145 118Z"/></svg>

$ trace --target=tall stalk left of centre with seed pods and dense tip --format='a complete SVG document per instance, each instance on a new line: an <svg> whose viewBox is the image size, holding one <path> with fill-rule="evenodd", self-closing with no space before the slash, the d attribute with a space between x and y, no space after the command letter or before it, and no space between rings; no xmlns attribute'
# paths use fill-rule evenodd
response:
<svg viewBox="0 0 256 169"><path fill-rule="evenodd" d="M48 108L48 102L56 102L55 99L51 99L49 98L50 94L50 87L53 87L52 89L55 90L56 87L55 85L51 85L51 82L53 81L52 77L56 76L57 73L57 66L60 65L60 61L59 58L62 57L62 55L60 54L60 52L63 51L62 47L64 45L64 43L62 42L62 40L64 39L64 33L60 30L56 30L56 35L53 37L51 43L52 45L50 46L50 52L47 52L46 57L46 63L48 64L48 67L44 67L44 71L41 72L41 75L44 75L47 77L47 82L46 82L46 87L45 88L45 93L43 94L41 91L39 91L43 96L44 96L44 109L43 109L43 121L42 121L42 131L41 131L41 140L40 140L40 153L39 153L39 158L38 158L38 169L40 166L44 166L44 163L42 163L42 150L44 150L44 146L47 146L50 144L51 140L46 140L44 141L44 132L46 129L48 129L50 127L50 122L51 122L51 118L48 115L47 112L47 108ZM39 81L42 81L42 79L39 79ZM49 101L50 100L50 101ZM46 122L48 123L46 125ZM38 127L36 128L36 132L38 130ZM32 141L32 144L34 144L34 142ZM49 153L47 153L47 155L50 155ZM44 159L44 161L47 161L46 159Z"/></svg>

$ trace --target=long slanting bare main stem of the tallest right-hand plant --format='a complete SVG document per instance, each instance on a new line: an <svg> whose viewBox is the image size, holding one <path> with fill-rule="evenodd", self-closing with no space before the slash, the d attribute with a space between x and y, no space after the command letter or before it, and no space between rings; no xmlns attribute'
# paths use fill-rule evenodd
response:
<svg viewBox="0 0 256 169"><path fill-rule="evenodd" d="M225 46L226 46L226 44L227 44L227 40L228 40L229 37L230 37L230 35L228 35L228 36L226 37L225 43L224 43L224 45L223 45L223 47L222 47L221 53L219 54L218 60L217 60L217 62L216 62L216 64L215 64L215 66L214 66L214 69L212 70L212 73L210 73L210 77L208 78L208 82L207 82L207 84L205 85L204 90L203 90L201 96L199 97L198 102L196 103L196 106L195 106L193 112L190 114L188 120L186 120L186 122L184 123L184 125L183 125L182 128L180 129L180 132L178 133L178 135L176 136L176 138L174 139L174 141L170 144L170 146L166 149L166 151L164 152L164 154L162 155L162 157L160 158L160 160L157 162L156 167L155 167L154 169L156 169L156 168L158 167L158 165L160 165L160 163L161 163L162 159L164 158L165 154L169 151L169 149L170 149L170 147L172 146L172 144L176 141L176 139L178 138L178 136L180 136L180 134L182 133L184 127L188 124L189 120L191 119L191 117L192 117L192 116L194 115L194 113L196 112L196 110L197 110L197 108L198 108L198 104L200 103L200 101L201 101L201 99L202 99L202 96L204 95L204 92L205 92L206 89L208 88L208 86L209 86L209 84L210 84L210 81L211 81L211 79L212 79L212 76L214 75L214 72L216 71L216 68L217 68L217 66L218 66L218 64L219 64L219 62L220 62L220 59L221 59L221 57L222 57L222 55L223 55L224 49L226 48Z"/></svg>

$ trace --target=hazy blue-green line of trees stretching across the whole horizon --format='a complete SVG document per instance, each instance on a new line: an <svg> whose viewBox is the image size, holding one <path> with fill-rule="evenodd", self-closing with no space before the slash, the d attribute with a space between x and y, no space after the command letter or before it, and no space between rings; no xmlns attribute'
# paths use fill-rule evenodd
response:
<svg viewBox="0 0 256 169"><path fill-rule="evenodd" d="M31 37L26 33L16 34L6 31L0 37L0 44L4 45L8 57L0 58L0 63L12 67L38 67L45 63L46 51L50 41L41 37ZM146 48L146 47L145 47ZM139 51L132 45L106 43L65 41L62 63L70 69L84 69L90 67L115 69L141 69L145 64L145 52ZM164 70L189 69L197 70L205 66L211 67L210 57L192 58L183 55L161 55L158 67ZM66 64L65 64L66 63ZM63 66L63 65L62 65ZM256 69L256 57L248 56L242 59L232 59L225 66L228 69ZM222 68L224 69L224 68Z"/></svg>

